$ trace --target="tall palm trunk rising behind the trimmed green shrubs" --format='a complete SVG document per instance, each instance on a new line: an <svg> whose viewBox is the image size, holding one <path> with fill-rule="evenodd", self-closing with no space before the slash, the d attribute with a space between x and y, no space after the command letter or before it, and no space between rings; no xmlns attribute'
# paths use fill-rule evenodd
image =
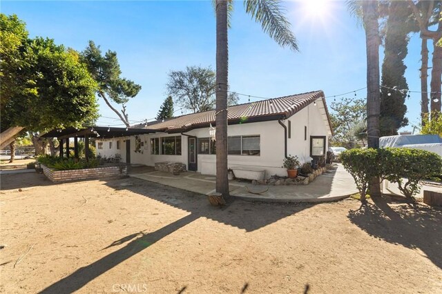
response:
<svg viewBox="0 0 442 294"><path fill-rule="evenodd" d="M363 1L363 21L367 46L367 141L369 148L379 148L379 112L381 92L379 90L379 37L378 1ZM379 178L369 182L371 196L380 196Z"/></svg>

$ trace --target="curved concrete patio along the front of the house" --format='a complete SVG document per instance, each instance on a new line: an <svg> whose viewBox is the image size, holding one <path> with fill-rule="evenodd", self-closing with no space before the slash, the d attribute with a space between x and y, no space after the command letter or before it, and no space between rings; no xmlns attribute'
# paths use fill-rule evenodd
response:
<svg viewBox="0 0 442 294"><path fill-rule="evenodd" d="M208 195L215 191L215 177L186 172L171 175L160 171L129 171L129 176L195 193ZM241 199L262 202L330 202L357 193L354 180L340 165L319 175L307 186L263 186L251 182L232 180L230 194Z"/></svg>

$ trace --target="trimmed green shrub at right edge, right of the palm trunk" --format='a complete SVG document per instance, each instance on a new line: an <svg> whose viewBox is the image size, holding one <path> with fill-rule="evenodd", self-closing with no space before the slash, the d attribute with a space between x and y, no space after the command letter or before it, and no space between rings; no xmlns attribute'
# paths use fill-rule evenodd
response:
<svg viewBox="0 0 442 294"><path fill-rule="evenodd" d="M442 174L442 158L436 153L412 148L381 149L383 178L398 184L408 199L419 193L419 182L433 175Z"/></svg>

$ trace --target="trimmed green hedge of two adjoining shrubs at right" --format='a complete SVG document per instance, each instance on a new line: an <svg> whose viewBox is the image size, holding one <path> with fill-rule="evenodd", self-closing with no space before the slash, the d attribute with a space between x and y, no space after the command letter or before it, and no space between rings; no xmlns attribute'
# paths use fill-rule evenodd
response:
<svg viewBox="0 0 442 294"><path fill-rule="evenodd" d="M442 175L442 158L436 153L412 148L352 149L341 153L344 168L352 175L365 201L369 179L380 177L398 184L399 190L413 199L419 182Z"/></svg>

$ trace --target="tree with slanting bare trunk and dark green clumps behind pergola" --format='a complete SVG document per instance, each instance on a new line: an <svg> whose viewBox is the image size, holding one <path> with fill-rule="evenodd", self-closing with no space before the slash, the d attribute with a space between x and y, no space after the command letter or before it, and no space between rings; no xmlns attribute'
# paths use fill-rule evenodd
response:
<svg viewBox="0 0 442 294"><path fill-rule="evenodd" d="M86 63L90 75L97 81L99 97L102 97L107 106L129 127L125 104L140 92L141 86L120 77L122 71L119 69L117 52L108 50L103 56L99 46L89 41L88 47L81 52L81 61ZM122 105L121 113L109 100Z"/></svg>

